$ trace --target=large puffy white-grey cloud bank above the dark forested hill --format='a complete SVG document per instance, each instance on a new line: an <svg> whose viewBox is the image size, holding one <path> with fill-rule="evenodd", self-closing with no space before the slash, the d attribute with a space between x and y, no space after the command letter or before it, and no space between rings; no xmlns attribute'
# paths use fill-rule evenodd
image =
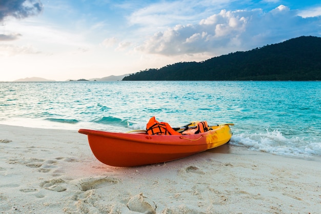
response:
<svg viewBox="0 0 321 214"><path fill-rule="evenodd" d="M284 5L264 12L253 10L221 10L198 24L176 25L156 32L136 50L181 55L211 52L214 55L236 50L248 50L282 42L301 35L315 35L321 17L303 18L296 10Z"/></svg>

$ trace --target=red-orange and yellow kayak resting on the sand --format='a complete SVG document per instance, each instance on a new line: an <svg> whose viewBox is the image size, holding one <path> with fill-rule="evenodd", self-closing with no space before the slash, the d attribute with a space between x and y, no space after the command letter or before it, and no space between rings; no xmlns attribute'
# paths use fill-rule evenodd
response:
<svg viewBox="0 0 321 214"><path fill-rule="evenodd" d="M95 157L110 166L140 166L164 163L212 149L228 143L232 137L230 125L209 127L197 134L150 135L143 132L108 132L79 129L87 134Z"/></svg>

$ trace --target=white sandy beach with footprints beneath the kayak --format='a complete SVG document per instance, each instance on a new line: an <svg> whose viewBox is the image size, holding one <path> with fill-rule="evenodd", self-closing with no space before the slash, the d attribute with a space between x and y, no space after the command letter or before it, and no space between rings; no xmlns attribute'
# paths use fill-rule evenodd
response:
<svg viewBox="0 0 321 214"><path fill-rule="evenodd" d="M320 213L320 157L224 145L112 167L77 131L0 125L0 213Z"/></svg>

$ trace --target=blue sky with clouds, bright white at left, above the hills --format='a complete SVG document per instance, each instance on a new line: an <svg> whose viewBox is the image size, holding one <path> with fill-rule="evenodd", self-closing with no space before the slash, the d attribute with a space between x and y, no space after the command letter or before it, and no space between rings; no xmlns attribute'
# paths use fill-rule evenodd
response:
<svg viewBox="0 0 321 214"><path fill-rule="evenodd" d="M0 81L92 79L321 37L321 2L0 0Z"/></svg>

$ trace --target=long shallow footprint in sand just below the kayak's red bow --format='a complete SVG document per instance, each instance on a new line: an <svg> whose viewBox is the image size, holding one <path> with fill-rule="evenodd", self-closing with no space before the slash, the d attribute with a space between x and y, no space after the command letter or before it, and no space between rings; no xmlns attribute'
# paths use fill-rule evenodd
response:
<svg viewBox="0 0 321 214"><path fill-rule="evenodd" d="M77 185L82 191L88 191L90 189L96 189L105 185L112 185L121 182L121 180L111 177L103 178L87 178L82 179Z"/></svg>

